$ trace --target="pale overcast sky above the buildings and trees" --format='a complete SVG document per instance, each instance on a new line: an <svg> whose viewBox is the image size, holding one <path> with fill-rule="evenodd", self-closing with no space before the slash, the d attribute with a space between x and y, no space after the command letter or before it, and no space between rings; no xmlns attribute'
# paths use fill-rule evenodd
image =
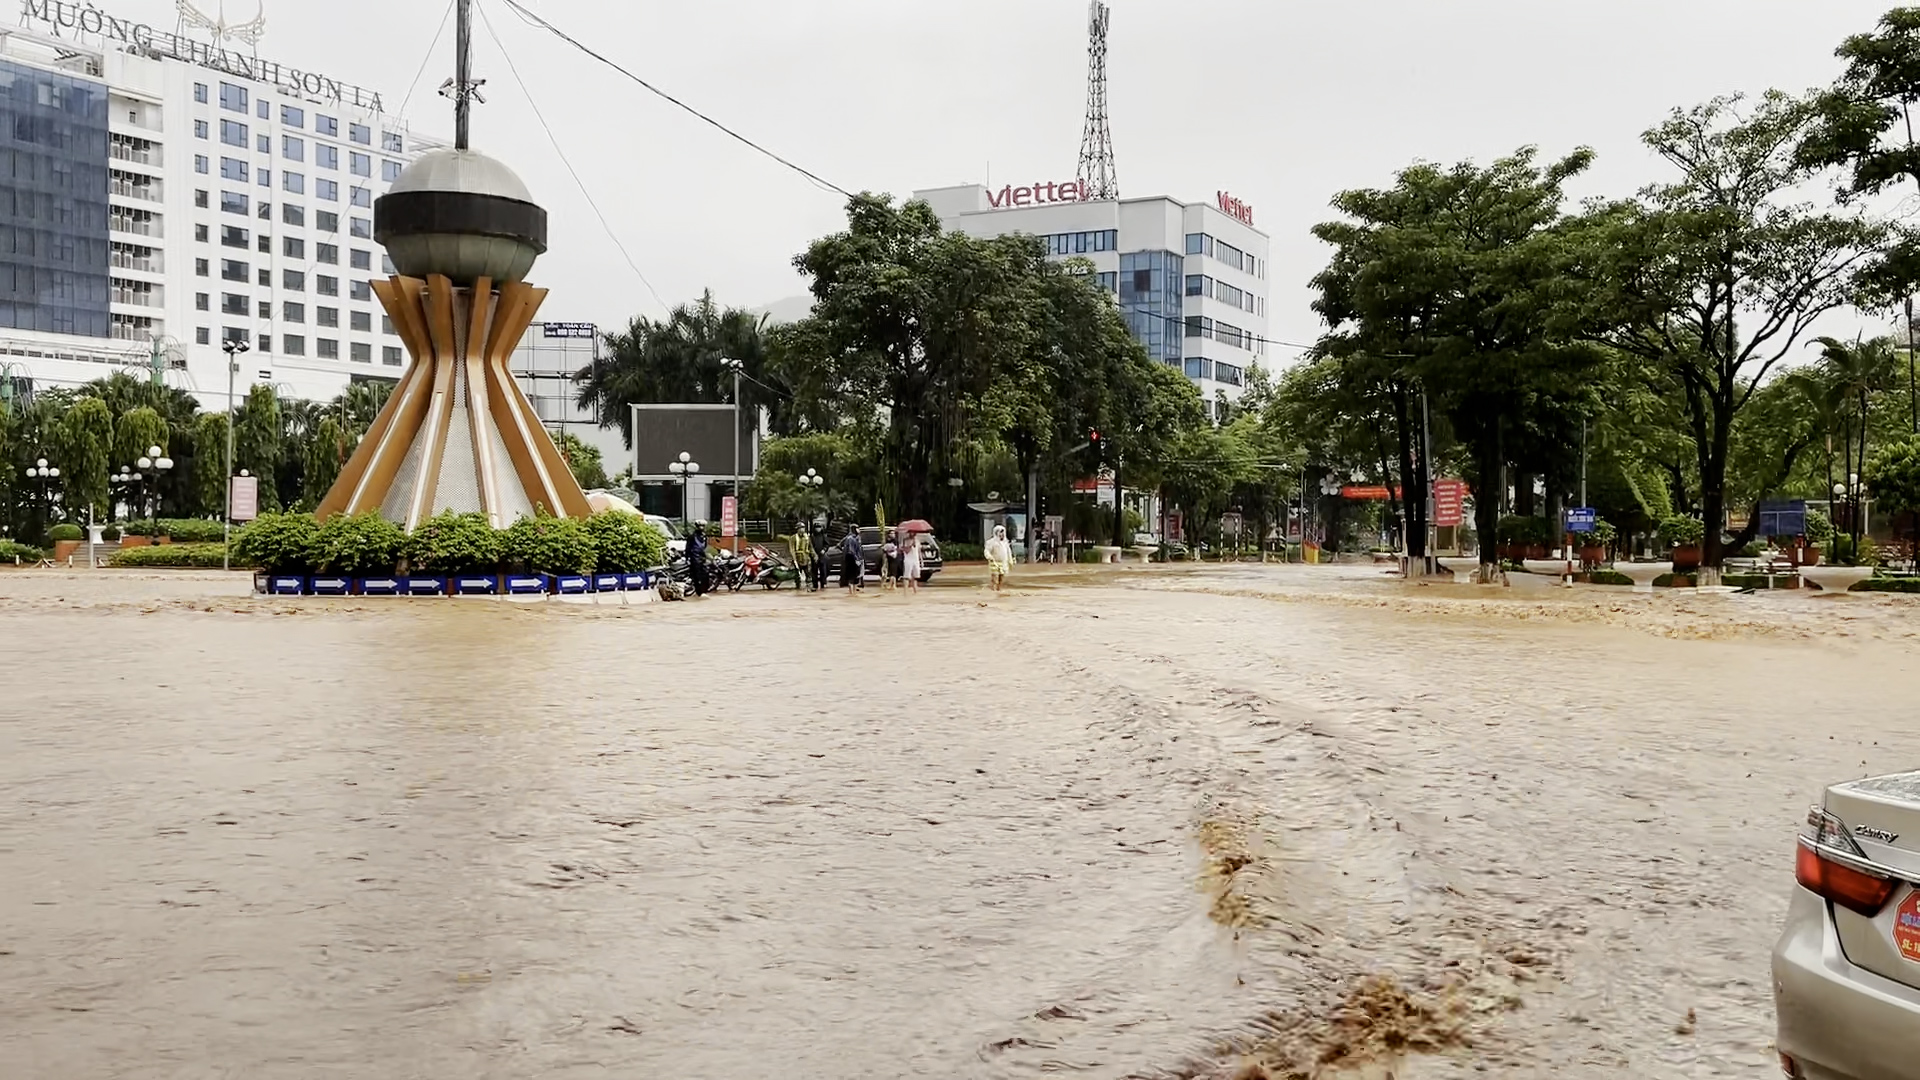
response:
<svg viewBox="0 0 1920 1080"><path fill-rule="evenodd" d="M96 0L173 25L167 0ZM841 225L841 198L478 0L534 100L668 304L804 292L791 258ZM1073 173L1085 110L1083 0L522 0L660 88L849 190ZM1834 46L1891 0L1112 0L1112 117L1123 194L1227 188L1273 236L1269 336L1313 340L1308 229L1348 186L1413 160L1594 146L1576 194L1663 177L1638 135L1672 106L1837 71ZM215 0L204 0L215 8ZM380 88L397 108L445 0L269 0L261 56ZM227 0L230 19L252 0ZM451 135L434 88L451 25L407 108ZM551 211L534 277L545 317L660 313L555 158L484 25L474 146ZM1876 323L1878 325L1878 323ZM1851 334L1853 323L1828 327ZM1284 352L1275 359L1284 363Z"/></svg>

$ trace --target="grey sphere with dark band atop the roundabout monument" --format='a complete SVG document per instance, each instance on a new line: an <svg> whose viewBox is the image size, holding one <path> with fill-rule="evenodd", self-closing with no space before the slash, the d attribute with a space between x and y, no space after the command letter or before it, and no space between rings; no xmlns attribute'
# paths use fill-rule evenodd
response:
<svg viewBox="0 0 1920 1080"><path fill-rule="evenodd" d="M476 150L430 150L372 206L372 236L407 277L524 281L547 250L547 211L513 169Z"/></svg>

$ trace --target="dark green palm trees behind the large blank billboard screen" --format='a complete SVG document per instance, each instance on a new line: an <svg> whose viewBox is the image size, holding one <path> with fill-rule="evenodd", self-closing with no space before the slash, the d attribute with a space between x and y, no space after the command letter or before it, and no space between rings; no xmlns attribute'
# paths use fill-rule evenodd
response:
<svg viewBox="0 0 1920 1080"><path fill-rule="evenodd" d="M766 315L743 307L722 309L712 292L674 307L666 319L634 317L626 331L607 334L607 356L574 373L574 400L593 409L601 427L620 427L634 446L632 404L726 404L733 400L733 373L724 361L741 363L741 407L766 405L776 430L785 390L768 373Z"/></svg>

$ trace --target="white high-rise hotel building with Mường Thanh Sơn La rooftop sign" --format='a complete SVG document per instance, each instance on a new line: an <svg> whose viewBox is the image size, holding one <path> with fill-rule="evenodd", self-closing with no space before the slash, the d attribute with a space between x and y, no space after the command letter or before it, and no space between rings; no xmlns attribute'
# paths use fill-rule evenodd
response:
<svg viewBox="0 0 1920 1080"><path fill-rule="evenodd" d="M77 386L157 359L225 402L332 398L405 350L371 281L372 202L444 146L378 92L67 0L0 31L0 365Z"/></svg>

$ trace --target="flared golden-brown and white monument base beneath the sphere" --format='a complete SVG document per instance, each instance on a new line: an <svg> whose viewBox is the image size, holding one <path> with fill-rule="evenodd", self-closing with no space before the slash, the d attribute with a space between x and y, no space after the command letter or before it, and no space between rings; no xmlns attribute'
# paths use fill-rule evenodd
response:
<svg viewBox="0 0 1920 1080"><path fill-rule="evenodd" d="M545 288L442 275L372 282L411 363L315 517L380 511L407 528L440 511L588 517L588 496L507 371Z"/></svg>

